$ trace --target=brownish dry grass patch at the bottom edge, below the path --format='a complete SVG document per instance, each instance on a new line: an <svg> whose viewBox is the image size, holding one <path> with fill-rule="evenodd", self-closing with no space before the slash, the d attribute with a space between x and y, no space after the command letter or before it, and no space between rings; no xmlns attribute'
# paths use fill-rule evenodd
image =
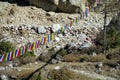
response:
<svg viewBox="0 0 120 80"><path fill-rule="evenodd" d="M74 73L65 67L60 70L51 70L50 77L50 80L98 80L82 74Z"/></svg>

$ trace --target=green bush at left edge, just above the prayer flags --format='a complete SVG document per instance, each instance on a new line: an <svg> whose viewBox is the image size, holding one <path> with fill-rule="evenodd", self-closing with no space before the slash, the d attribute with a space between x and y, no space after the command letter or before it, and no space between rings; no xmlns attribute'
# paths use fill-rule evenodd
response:
<svg viewBox="0 0 120 80"><path fill-rule="evenodd" d="M0 54L10 52L10 51L14 51L14 49L15 49L15 46L11 42L9 42L9 41L0 42Z"/></svg>

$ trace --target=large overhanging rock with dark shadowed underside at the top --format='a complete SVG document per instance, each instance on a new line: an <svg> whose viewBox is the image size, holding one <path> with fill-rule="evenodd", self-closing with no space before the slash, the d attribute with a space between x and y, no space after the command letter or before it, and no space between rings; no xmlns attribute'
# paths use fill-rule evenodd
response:
<svg viewBox="0 0 120 80"><path fill-rule="evenodd" d="M87 0L29 0L29 2L47 11L76 13L83 10Z"/></svg>

